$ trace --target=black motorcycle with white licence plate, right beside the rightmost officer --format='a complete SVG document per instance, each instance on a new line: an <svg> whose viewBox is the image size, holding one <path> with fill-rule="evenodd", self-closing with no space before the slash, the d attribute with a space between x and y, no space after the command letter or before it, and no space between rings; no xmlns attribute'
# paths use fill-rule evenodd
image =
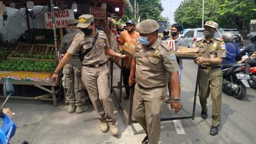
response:
<svg viewBox="0 0 256 144"><path fill-rule="evenodd" d="M249 67L249 66L248 66ZM246 95L246 88L250 87L247 80L250 79L247 64L224 64L223 72L223 91L230 91L232 96L242 99Z"/></svg>

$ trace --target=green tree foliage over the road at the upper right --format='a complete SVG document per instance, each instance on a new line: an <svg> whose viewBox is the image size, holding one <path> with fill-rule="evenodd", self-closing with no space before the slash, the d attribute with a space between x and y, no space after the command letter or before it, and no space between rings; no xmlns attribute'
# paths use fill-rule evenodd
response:
<svg viewBox="0 0 256 144"><path fill-rule="evenodd" d="M203 0L185 0L175 10L174 20L185 28L201 27ZM255 0L205 0L204 23L215 21L220 28L249 28L256 19Z"/></svg>

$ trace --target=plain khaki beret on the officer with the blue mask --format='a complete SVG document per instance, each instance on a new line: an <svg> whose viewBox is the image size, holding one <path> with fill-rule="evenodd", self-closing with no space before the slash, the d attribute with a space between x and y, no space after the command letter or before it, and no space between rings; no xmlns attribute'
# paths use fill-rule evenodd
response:
<svg viewBox="0 0 256 144"><path fill-rule="evenodd" d="M153 19L146 19L137 24L136 29L139 33L143 34L153 33L159 29L159 24Z"/></svg>

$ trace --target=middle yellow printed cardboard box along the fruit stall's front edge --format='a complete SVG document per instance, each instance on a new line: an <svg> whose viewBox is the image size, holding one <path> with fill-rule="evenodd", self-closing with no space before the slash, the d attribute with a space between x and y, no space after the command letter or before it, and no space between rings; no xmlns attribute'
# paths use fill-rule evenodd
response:
<svg viewBox="0 0 256 144"><path fill-rule="evenodd" d="M11 81L29 81L29 74L31 72L27 72L27 71L16 71L13 73L10 73L10 76L8 78L8 80Z"/></svg>

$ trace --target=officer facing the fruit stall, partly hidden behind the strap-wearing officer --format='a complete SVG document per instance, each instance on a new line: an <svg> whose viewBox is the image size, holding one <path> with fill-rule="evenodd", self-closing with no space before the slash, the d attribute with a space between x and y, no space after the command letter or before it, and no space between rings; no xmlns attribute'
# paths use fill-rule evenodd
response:
<svg viewBox="0 0 256 144"><path fill-rule="evenodd" d="M68 33L63 37L59 46L59 52L61 54L66 53L69 49L74 37L81 33L79 28L76 28L78 24L77 19L71 19L68 23ZM73 113L76 109L76 113L82 113L88 109L85 105L85 86L81 79L82 64L79 60L78 54L73 55L63 68L63 87L66 91L66 101L69 104L68 111ZM76 106L77 108L76 108Z"/></svg>

